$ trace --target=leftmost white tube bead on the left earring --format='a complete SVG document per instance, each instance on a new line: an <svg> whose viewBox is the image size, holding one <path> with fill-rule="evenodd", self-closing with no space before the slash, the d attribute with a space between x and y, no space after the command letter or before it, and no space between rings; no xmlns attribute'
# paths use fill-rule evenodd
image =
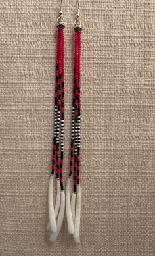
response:
<svg viewBox="0 0 155 256"><path fill-rule="evenodd" d="M50 222L50 229L53 232L56 232L57 228L56 228L56 220L55 220L55 210L53 206L53 178L54 176L51 175L49 179L49 222Z"/></svg>

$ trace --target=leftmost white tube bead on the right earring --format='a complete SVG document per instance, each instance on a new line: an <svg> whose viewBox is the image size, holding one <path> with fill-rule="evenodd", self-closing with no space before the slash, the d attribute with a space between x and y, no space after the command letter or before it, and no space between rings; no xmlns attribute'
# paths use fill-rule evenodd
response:
<svg viewBox="0 0 155 256"><path fill-rule="evenodd" d="M66 216L67 216L67 223L68 223L68 232L70 234L74 234L74 222L72 218L72 211L70 205L70 178L67 180L66 184Z"/></svg>

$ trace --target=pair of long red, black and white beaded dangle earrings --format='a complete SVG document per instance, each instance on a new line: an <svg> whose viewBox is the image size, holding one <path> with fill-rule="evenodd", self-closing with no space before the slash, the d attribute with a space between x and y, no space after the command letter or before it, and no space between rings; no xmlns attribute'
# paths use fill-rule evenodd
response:
<svg viewBox="0 0 155 256"><path fill-rule="evenodd" d="M70 143L70 170L66 183L66 194L63 184L63 161L64 161L64 18L62 16L62 1L57 19L58 35L56 49L56 82L55 82L55 116L53 155L51 163L51 177L49 180L49 223L47 230L51 231L50 241L55 242L64 219L66 205L66 217L68 232L74 236L75 242L79 242L79 226L81 215L81 189L79 184L80 172L80 57L81 57L81 22L79 20L79 1L76 20L74 21L74 82L72 97L72 125ZM70 180L74 172L74 186L70 199ZM53 180L56 174L56 203L53 203ZM66 201L66 203L65 203Z"/></svg>

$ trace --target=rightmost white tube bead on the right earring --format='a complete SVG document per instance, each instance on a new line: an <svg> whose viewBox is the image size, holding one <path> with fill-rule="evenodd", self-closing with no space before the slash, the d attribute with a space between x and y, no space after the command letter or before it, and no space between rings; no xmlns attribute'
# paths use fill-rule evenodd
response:
<svg viewBox="0 0 155 256"><path fill-rule="evenodd" d="M81 188L80 184L77 186L77 195L76 195L76 217L74 223L74 240L79 242L79 227L80 227L80 217L81 217Z"/></svg>

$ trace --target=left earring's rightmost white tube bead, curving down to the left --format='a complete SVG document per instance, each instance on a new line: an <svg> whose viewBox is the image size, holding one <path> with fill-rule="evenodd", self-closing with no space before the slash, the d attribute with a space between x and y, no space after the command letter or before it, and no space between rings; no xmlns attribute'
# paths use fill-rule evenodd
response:
<svg viewBox="0 0 155 256"><path fill-rule="evenodd" d="M60 232L60 229L62 227L62 222L64 220L64 208L65 208L65 195L64 195L64 190L61 192L61 202L60 202L60 211L58 213L58 220L57 220L57 230L56 232L53 232L50 236L50 241L55 242L56 238L58 237L58 234Z"/></svg>

